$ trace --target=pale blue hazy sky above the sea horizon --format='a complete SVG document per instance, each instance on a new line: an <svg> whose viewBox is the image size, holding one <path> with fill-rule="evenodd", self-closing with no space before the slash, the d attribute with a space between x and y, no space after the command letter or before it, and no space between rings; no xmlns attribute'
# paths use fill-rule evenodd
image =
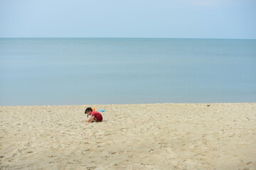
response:
<svg viewBox="0 0 256 170"><path fill-rule="evenodd" d="M0 38L256 39L256 0L0 0Z"/></svg>

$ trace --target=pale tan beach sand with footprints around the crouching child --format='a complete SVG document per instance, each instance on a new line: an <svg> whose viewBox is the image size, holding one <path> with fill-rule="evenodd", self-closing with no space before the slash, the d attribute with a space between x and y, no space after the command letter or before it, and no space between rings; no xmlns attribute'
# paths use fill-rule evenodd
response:
<svg viewBox="0 0 256 170"><path fill-rule="evenodd" d="M0 169L256 169L256 103L207 105L1 106Z"/></svg>

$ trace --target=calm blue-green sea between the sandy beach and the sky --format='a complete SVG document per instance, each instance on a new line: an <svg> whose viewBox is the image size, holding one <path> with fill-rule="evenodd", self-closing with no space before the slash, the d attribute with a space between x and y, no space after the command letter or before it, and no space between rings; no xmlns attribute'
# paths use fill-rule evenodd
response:
<svg viewBox="0 0 256 170"><path fill-rule="evenodd" d="M256 40L0 38L0 105L256 102Z"/></svg>

